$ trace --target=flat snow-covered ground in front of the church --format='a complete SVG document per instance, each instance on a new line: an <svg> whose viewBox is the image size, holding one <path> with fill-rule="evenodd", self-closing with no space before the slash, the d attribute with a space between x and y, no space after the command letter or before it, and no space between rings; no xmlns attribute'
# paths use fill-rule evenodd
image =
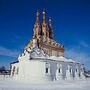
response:
<svg viewBox="0 0 90 90"><path fill-rule="evenodd" d="M26 84L11 81L9 79L0 79L0 90L90 90L90 79L71 81L63 80L41 84Z"/></svg>

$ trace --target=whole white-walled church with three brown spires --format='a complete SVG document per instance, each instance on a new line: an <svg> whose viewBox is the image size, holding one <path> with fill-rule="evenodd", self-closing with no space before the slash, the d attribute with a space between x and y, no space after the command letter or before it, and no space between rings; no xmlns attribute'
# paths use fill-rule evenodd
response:
<svg viewBox="0 0 90 90"><path fill-rule="evenodd" d="M59 80L84 79L84 67L79 62L64 56L64 45L53 38L51 18L46 20L46 12L37 11L33 37L11 63L11 77L17 81L49 82Z"/></svg>

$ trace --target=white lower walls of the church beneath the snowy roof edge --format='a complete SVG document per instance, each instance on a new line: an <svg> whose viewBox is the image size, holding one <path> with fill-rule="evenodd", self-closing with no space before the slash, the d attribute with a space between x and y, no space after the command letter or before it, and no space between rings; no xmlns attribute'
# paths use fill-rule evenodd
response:
<svg viewBox="0 0 90 90"><path fill-rule="evenodd" d="M52 61L52 60L26 60L19 63L12 64L12 68L15 66L14 79L31 82L47 82L53 80L70 80L79 77L81 73L81 67L79 64ZM17 74L17 68L18 74ZM48 68L48 73L46 73ZM60 68L60 73L58 69ZM71 68L71 73L70 73ZM77 69L77 72L76 72ZM13 71L13 69L12 69ZM82 70L83 71L83 70ZM12 75L12 74L11 74Z"/></svg>

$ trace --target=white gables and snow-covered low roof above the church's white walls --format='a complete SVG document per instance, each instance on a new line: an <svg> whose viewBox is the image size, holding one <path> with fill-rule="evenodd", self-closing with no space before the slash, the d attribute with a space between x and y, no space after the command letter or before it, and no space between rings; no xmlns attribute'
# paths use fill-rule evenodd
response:
<svg viewBox="0 0 90 90"><path fill-rule="evenodd" d="M56 61L63 61L63 62L72 62L72 63L78 63L75 62L72 59L67 59L63 56L57 57L57 56L48 56L43 49L38 48L36 40L33 39L33 47L32 48L27 48L24 50L22 55L19 55L18 60L30 60L30 58L43 58L43 59L51 59L51 60L56 60Z"/></svg>

